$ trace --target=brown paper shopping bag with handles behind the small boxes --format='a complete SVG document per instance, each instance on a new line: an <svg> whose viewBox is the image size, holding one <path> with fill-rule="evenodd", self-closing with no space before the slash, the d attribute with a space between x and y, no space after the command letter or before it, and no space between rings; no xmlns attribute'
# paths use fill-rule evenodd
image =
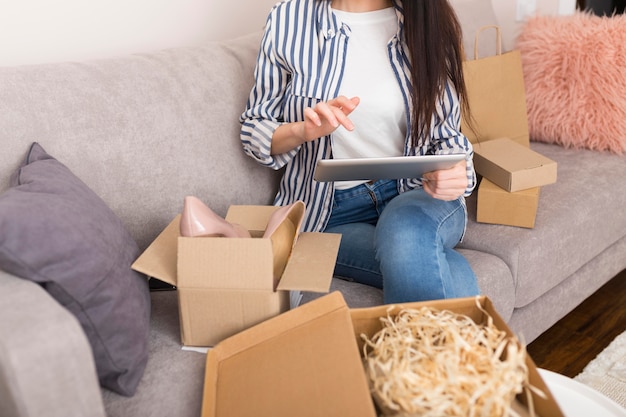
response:
<svg viewBox="0 0 626 417"><path fill-rule="evenodd" d="M478 38L485 29L495 29L496 55L478 59ZM521 54L502 53L501 39L498 26L476 32L474 59L463 62L471 118L462 114L461 130L472 143L508 137L529 146Z"/></svg>

